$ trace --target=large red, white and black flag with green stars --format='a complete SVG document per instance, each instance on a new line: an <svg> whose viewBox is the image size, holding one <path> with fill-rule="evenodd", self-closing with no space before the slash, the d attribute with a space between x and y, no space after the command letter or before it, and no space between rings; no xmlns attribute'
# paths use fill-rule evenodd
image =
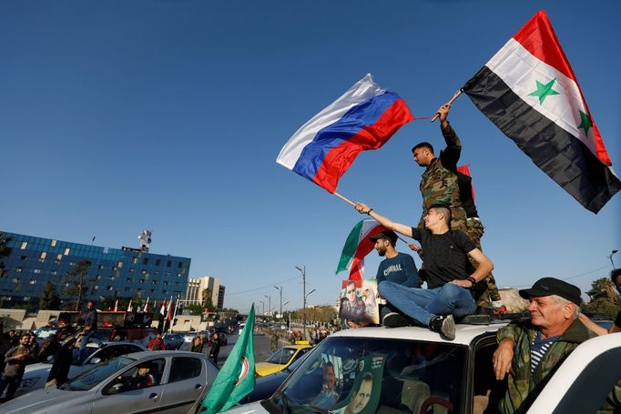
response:
<svg viewBox="0 0 621 414"><path fill-rule="evenodd" d="M545 174L597 213L621 189L585 96L539 11L463 91Z"/></svg>

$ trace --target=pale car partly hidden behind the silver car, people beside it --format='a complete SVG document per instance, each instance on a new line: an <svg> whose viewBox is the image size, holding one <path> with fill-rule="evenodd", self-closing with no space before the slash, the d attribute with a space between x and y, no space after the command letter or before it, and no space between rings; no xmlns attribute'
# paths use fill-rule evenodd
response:
<svg viewBox="0 0 621 414"><path fill-rule="evenodd" d="M112 358L117 358L120 355L142 350L147 350L147 348L139 344L128 342L101 342L98 340L89 342L87 344L87 358L81 364L77 361L78 348L73 349L74 360L69 369L67 378L72 379L87 369L93 368L97 364L106 362ZM26 394L35 389L42 389L46 385L47 376L49 375L50 369L52 369L53 362L54 357L50 357L46 362L26 365L24 377L22 377L19 388L15 391L15 396Z"/></svg>

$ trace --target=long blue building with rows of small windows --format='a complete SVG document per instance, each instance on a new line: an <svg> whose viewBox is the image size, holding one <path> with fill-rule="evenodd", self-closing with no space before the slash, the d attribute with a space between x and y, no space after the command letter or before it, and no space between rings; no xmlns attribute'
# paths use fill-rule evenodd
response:
<svg viewBox="0 0 621 414"><path fill-rule="evenodd" d="M3 232L12 239L0 257L0 306L37 305L49 280L62 299L67 272L88 260L84 300L103 298L168 299L185 296L191 259L146 253L136 248L97 247L52 238Z"/></svg>

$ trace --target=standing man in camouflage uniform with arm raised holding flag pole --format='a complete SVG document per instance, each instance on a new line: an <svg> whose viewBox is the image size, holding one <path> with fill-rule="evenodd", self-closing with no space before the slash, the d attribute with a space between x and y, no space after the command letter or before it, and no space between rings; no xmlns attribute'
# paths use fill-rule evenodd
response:
<svg viewBox="0 0 621 414"><path fill-rule="evenodd" d="M446 147L440 151L440 157L435 157L433 146L428 142L422 142L412 148L416 164L426 167L421 176L422 216L418 227L424 229L423 217L427 215L429 207L438 203L446 204L451 207L451 229L466 232L474 245L481 249L483 225L474 207L470 177L463 174L460 176L461 173L457 172L457 161L462 154L462 142L447 120L450 109L450 105L443 105L436 113L440 118L440 130L446 142ZM470 216L468 212L471 213ZM412 248L412 250L416 249ZM419 255L424 260L423 254L419 251ZM474 268L479 266L472 257L469 259ZM424 270L424 263L422 270ZM422 274L424 275L424 272ZM482 280L473 291L479 307L492 308L492 302L500 300L492 274Z"/></svg>

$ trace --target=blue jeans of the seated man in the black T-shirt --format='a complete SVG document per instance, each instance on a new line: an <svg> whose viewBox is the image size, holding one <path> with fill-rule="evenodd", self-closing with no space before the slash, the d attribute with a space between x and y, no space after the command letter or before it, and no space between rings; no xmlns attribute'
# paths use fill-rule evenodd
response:
<svg viewBox="0 0 621 414"><path fill-rule="evenodd" d="M380 296L393 308L428 327L436 315L450 315L460 318L472 315L476 310L470 291L453 283L442 288L406 288L393 282L383 281L377 287Z"/></svg>

